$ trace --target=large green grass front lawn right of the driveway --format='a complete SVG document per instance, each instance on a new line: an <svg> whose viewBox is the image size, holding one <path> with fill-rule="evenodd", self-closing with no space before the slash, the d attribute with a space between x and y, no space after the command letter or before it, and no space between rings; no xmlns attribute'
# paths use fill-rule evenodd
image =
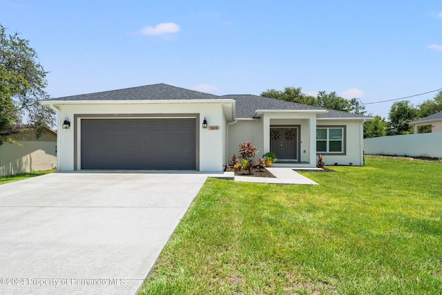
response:
<svg viewBox="0 0 442 295"><path fill-rule="evenodd" d="M139 294L442 294L442 164L209 179Z"/></svg>

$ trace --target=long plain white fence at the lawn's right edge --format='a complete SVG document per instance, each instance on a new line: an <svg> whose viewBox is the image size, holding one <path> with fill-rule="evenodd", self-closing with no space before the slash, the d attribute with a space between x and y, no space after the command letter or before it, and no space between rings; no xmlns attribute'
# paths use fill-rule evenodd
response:
<svg viewBox="0 0 442 295"><path fill-rule="evenodd" d="M442 132L365 138L368 155L408 155L442 158Z"/></svg>

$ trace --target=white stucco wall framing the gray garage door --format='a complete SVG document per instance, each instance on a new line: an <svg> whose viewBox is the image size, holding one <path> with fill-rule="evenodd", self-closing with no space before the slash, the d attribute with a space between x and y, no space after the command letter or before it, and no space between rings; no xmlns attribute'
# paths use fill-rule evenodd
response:
<svg viewBox="0 0 442 295"><path fill-rule="evenodd" d="M186 114L199 114L200 121L197 122L198 130L200 132L200 171L222 171L224 165L226 123L224 119L223 109L221 103L146 103L146 104L59 104L55 105L59 113L59 135L58 146L59 155L57 158L57 169L59 171L73 171L74 150L75 150L75 134L77 146L77 169L80 168L81 161L81 130L80 121L81 115L100 115L99 118L105 117L124 118L124 115L131 115L137 117L146 117L146 115L161 115L168 117L176 117L176 115L183 114L182 117L187 117ZM77 115L77 122L74 120L74 115ZM129 117L129 116L128 116ZM209 129L202 129L202 121L206 117L209 126L220 126L219 130L209 131ZM70 129L62 129L61 124L68 118L70 121ZM93 118L93 117L88 117ZM75 133L75 130L77 132ZM198 155L197 155L198 157Z"/></svg>

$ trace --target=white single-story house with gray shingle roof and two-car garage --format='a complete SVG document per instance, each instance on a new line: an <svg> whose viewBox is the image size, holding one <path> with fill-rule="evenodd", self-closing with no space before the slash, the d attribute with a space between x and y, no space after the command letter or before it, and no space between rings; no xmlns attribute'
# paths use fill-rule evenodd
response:
<svg viewBox="0 0 442 295"><path fill-rule="evenodd" d="M238 145L279 165L363 164L363 115L256 95L153 84L48 99L58 113L59 171L223 171Z"/></svg>

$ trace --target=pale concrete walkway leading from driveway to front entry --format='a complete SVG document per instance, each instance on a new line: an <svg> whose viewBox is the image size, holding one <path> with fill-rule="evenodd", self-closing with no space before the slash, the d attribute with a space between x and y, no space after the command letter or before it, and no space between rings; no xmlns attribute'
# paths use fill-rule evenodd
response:
<svg viewBox="0 0 442 295"><path fill-rule="evenodd" d="M256 182L256 183L278 183L278 184L317 184L305 176L300 175L291 168L266 168L276 178L258 178L251 176L235 176L235 181Z"/></svg>

